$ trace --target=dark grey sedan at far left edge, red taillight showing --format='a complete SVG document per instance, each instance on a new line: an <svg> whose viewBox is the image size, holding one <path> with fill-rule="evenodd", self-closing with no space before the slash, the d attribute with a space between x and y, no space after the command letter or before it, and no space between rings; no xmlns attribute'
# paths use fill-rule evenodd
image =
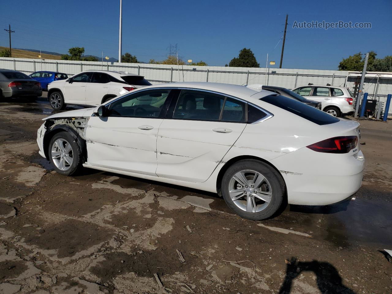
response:
<svg viewBox="0 0 392 294"><path fill-rule="evenodd" d="M36 99L42 96L40 82L27 74L10 69L0 69L0 98L25 97Z"/></svg>

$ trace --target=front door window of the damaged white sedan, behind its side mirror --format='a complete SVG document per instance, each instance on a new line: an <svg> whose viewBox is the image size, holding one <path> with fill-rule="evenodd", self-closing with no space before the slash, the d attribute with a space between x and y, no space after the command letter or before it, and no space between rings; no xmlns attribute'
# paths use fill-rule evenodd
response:
<svg viewBox="0 0 392 294"><path fill-rule="evenodd" d="M156 89L129 94L109 104L109 116L160 117L168 89Z"/></svg>

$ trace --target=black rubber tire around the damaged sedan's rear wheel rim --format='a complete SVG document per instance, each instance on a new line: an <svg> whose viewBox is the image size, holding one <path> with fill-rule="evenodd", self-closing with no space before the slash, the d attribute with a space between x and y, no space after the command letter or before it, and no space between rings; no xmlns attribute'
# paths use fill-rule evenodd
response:
<svg viewBox="0 0 392 294"><path fill-rule="evenodd" d="M232 177L240 171L251 170L263 175L269 182L269 190L271 192L270 202L263 210L259 212L247 212L239 208L229 195L229 185ZM265 184L263 184L265 185ZM281 207L283 203L285 185L281 175L270 165L263 163L258 160L240 160L239 162L231 165L222 178L221 192L223 199L225 200L227 206L235 212L241 218L246 218L248 220L265 220L273 216ZM254 198L256 201L259 199ZM240 199L241 200L241 199ZM239 201L239 200L237 200ZM243 200L241 200L243 201ZM243 203L243 202L241 202ZM245 201L246 203L246 201ZM263 204L263 201L261 201Z"/></svg>

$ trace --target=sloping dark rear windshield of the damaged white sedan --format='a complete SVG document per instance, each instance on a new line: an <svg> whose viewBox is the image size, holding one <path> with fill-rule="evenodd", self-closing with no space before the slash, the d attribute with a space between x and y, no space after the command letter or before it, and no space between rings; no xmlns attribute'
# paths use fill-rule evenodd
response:
<svg viewBox="0 0 392 294"><path fill-rule="evenodd" d="M272 94L260 98L260 100L301 116L302 118L305 118L310 122L317 123L318 125L328 125L330 123L339 122L338 118L328 113L282 95Z"/></svg>

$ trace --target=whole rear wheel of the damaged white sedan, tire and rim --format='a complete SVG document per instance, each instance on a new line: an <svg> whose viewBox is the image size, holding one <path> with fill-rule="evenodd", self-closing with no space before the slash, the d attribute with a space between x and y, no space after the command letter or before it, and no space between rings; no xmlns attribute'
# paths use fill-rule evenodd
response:
<svg viewBox="0 0 392 294"><path fill-rule="evenodd" d="M241 160L223 175L221 191L236 214L248 220L264 220L278 211L285 187L281 176L268 164Z"/></svg>

